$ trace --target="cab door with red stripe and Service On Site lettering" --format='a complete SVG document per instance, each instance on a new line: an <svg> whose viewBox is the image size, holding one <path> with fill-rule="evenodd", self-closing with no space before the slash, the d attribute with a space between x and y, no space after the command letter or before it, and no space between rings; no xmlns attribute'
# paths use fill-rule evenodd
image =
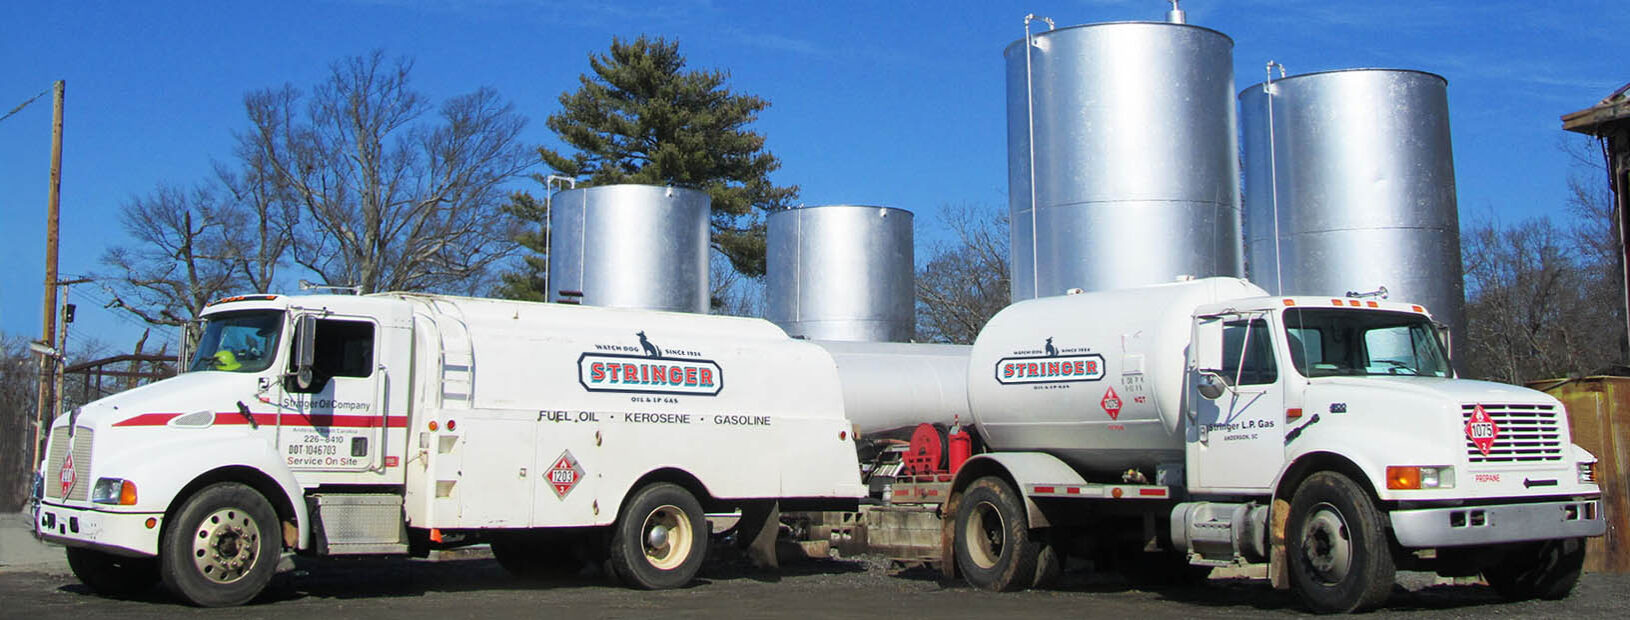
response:
<svg viewBox="0 0 1630 620"><path fill-rule="evenodd" d="M295 343L311 331L311 372L300 385L298 361L284 380L277 447L295 472L383 468L386 388L378 321L334 313L295 315ZM298 348L298 344L297 344ZM404 382L406 379L398 379Z"/></svg>

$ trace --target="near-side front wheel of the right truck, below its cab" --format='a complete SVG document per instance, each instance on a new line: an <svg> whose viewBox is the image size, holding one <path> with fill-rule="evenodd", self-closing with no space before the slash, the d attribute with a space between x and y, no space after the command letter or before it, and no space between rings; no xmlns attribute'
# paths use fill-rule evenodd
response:
<svg viewBox="0 0 1630 620"><path fill-rule="evenodd" d="M1296 488L1284 545L1291 587L1314 612L1371 609L1392 594L1397 568L1381 512L1345 475L1319 472Z"/></svg>

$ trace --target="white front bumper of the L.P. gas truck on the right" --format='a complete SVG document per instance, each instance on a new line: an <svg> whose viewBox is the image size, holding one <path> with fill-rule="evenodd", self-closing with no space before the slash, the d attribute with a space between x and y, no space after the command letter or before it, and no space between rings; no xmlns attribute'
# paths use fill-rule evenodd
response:
<svg viewBox="0 0 1630 620"><path fill-rule="evenodd" d="M1597 498L1392 511L1389 517L1399 545L1410 548L1599 537L1607 532Z"/></svg>

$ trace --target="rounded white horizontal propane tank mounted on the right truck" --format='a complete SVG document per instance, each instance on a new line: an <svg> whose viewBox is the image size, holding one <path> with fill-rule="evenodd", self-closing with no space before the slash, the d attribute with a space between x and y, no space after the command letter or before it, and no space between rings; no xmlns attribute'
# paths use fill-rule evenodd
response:
<svg viewBox="0 0 1630 620"><path fill-rule="evenodd" d="M1206 277L1014 303L973 343L970 413L993 450L1048 452L1100 478L1180 462L1193 310L1265 295Z"/></svg>

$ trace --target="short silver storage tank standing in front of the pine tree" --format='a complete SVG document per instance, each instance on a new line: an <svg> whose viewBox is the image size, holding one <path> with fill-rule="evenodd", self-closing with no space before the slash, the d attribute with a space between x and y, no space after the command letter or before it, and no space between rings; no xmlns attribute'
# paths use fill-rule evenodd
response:
<svg viewBox="0 0 1630 620"><path fill-rule="evenodd" d="M707 312L706 193L608 184L554 194L549 300Z"/></svg>

